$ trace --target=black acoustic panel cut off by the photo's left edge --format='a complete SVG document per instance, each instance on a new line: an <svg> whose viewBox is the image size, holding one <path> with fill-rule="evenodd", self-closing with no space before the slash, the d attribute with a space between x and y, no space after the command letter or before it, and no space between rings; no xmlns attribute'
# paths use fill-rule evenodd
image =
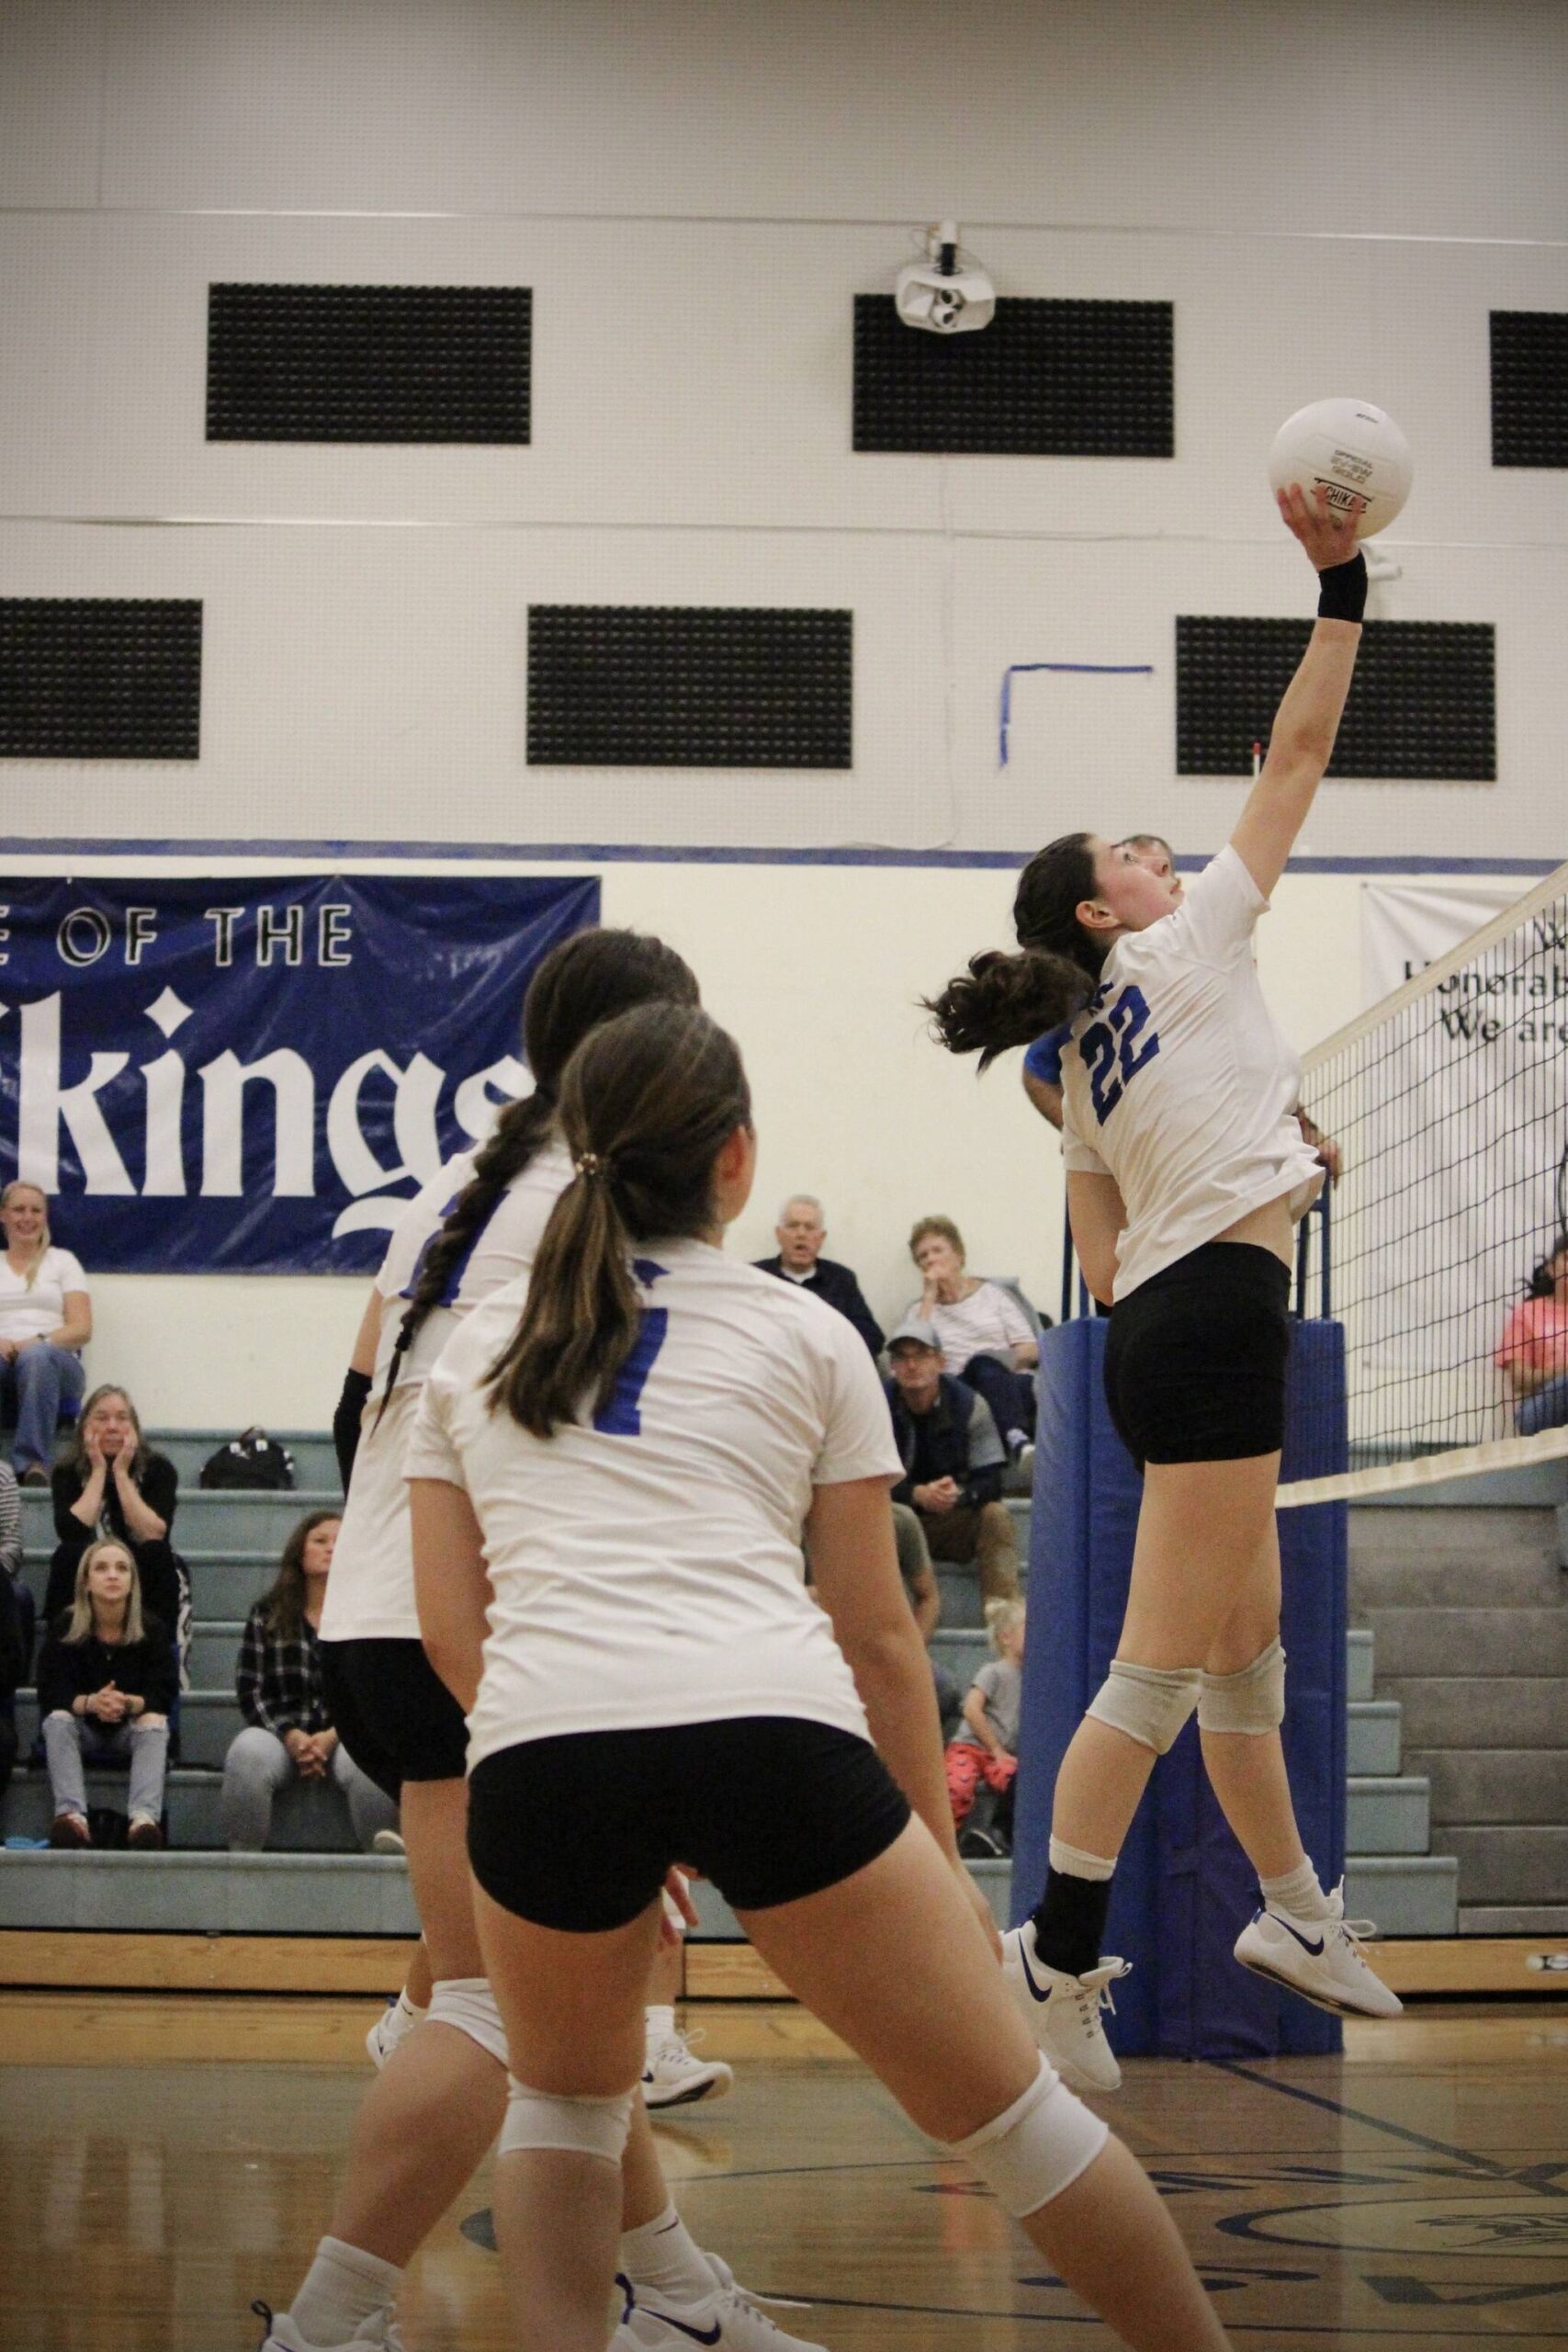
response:
<svg viewBox="0 0 1568 2352"><path fill-rule="evenodd" d="M200 753L200 600L0 597L0 760Z"/></svg>

